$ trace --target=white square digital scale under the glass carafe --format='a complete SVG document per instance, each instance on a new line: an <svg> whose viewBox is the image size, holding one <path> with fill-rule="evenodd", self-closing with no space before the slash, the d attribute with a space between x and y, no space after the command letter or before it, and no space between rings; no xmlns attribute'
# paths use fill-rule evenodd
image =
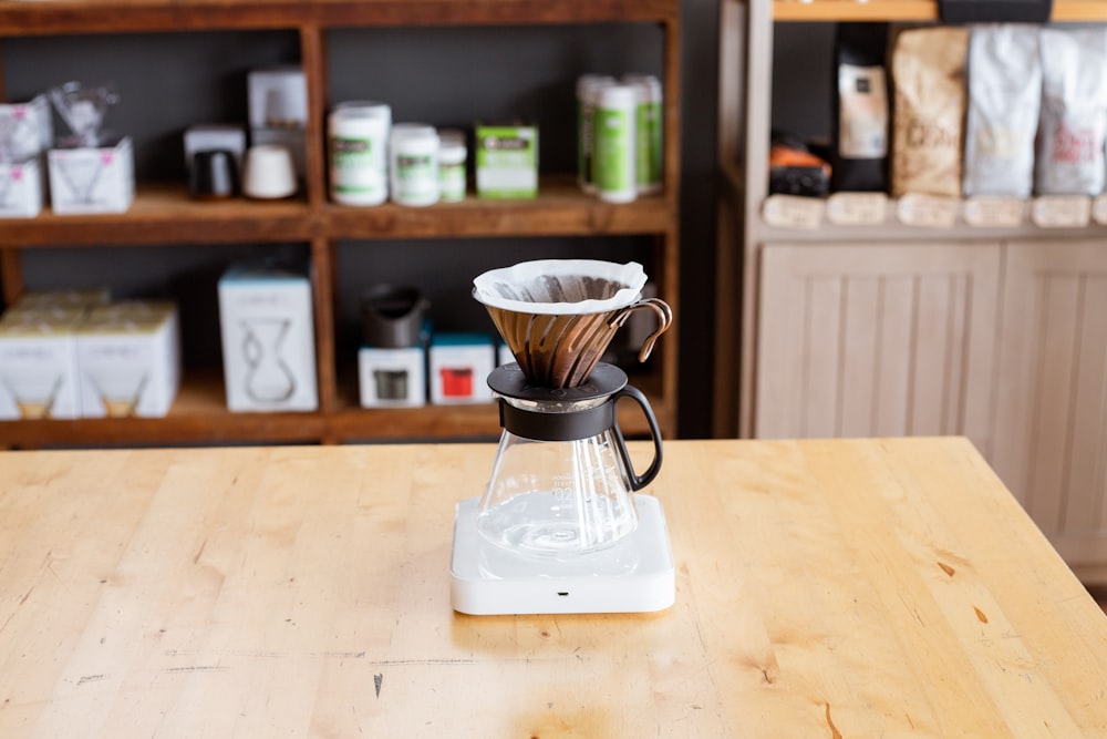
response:
<svg viewBox="0 0 1107 739"><path fill-rule="evenodd" d="M476 526L479 499L457 504L449 601L476 616L649 613L676 598L673 553L661 502L634 494L638 527L612 546L570 560L511 554Z"/></svg>

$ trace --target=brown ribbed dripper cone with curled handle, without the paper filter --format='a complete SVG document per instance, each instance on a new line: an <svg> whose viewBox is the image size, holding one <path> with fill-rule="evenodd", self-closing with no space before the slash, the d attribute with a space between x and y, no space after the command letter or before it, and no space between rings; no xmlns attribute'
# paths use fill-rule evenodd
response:
<svg viewBox="0 0 1107 739"><path fill-rule="evenodd" d="M659 318L658 330L645 340L639 353L642 361L650 356L653 342L672 322L669 305L655 298L639 300L618 310L569 316L485 307L527 380L545 388L582 384L632 311L649 308Z"/></svg>

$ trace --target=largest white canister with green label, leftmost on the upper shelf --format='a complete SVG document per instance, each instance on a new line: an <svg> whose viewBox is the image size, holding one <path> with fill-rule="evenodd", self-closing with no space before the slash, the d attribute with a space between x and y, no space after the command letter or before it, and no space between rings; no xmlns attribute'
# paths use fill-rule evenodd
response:
<svg viewBox="0 0 1107 739"><path fill-rule="evenodd" d="M383 103L344 102L328 117L331 198L343 205L380 205L389 197L389 131Z"/></svg>

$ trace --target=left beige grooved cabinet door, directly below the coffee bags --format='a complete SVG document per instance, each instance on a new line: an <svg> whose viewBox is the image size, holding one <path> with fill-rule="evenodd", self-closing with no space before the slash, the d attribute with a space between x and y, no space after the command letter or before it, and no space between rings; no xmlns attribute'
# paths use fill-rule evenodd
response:
<svg viewBox="0 0 1107 739"><path fill-rule="evenodd" d="M774 244L755 434L965 434L987 454L1000 247Z"/></svg>

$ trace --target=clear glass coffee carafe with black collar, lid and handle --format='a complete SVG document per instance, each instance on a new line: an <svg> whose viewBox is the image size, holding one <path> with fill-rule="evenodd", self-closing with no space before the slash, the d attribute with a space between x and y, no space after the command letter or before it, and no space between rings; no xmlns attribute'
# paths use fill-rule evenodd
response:
<svg viewBox="0 0 1107 739"><path fill-rule="evenodd" d="M499 397L504 431L477 530L493 544L520 554L562 557L608 547L638 526L633 492L661 469L658 421L627 374L599 363L575 388L530 384L518 365L495 370L488 384ZM645 413L653 460L634 472L619 429L619 401Z"/></svg>

